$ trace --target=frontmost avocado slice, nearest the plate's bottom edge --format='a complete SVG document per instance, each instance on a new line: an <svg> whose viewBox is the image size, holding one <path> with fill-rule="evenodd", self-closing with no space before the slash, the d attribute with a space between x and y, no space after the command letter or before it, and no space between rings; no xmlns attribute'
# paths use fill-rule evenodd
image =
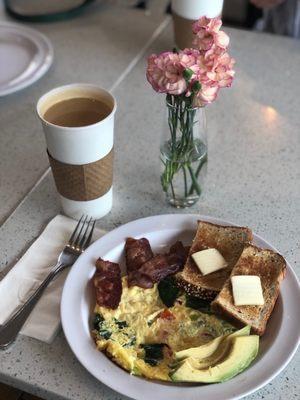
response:
<svg viewBox="0 0 300 400"><path fill-rule="evenodd" d="M246 369L255 359L259 348L259 336L237 336L231 340L228 355L219 364L196 369L187 360L171 375L175 382L224 382Z"/></svg>

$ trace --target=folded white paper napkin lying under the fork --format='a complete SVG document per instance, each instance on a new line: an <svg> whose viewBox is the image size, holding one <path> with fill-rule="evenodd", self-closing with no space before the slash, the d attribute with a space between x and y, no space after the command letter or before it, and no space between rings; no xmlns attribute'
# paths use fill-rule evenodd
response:
<svg viewBox="0 0 300 400"><path fill-rule="evenodd" d="M70 238L77 221L57 215L23 257L0 281L0 324L28 299L45 279ZM93 240L105 232L94 230ZM21 334L51 343L60 327L60 299L69 269L50 283L23 325Z"/></svg>

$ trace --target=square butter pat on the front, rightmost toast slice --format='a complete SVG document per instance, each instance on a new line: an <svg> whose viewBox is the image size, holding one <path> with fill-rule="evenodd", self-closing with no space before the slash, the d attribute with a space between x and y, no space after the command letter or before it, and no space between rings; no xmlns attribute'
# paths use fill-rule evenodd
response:
<svg viewBox="0 0 300 400"><path fill-rule="evenodd" d="M264 297L260 277L235 275L231 277L232 293L236 306L262 306Z"/></svg>

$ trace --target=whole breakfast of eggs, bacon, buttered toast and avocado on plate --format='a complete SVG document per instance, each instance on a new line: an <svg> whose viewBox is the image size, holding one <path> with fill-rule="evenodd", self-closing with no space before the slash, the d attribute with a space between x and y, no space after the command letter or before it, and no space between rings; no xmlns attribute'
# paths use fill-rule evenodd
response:
<svg viewBox="0 0 300 400"><path fill-rule="evenodd" d="M242 372L258 353L285 272L282 256L251 239L248 228L199 221L190 249L176 242L154 254L146 238L128 238L122 278L119 264L99 258L97 348L148 379L215 383Z"/></svg>

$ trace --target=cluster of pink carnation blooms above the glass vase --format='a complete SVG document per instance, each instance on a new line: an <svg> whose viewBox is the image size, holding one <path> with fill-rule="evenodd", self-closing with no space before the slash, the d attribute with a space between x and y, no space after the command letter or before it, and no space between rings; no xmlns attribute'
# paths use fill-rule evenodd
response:
<svg viewBox="0 0 300 400"><path fill-rule="evenodd" d="M211 103L220 88L229 87L234 77L234 59L226 52L228 35L221 31L220 18L202 17L193 25L197 49L184 49L179 53L164 52L148 58L147 79L159 93L184 94L186 97L197 91L195 83L201 84L195 93L195 106ZM185 70L188 83L184 78Z"/></svg>

